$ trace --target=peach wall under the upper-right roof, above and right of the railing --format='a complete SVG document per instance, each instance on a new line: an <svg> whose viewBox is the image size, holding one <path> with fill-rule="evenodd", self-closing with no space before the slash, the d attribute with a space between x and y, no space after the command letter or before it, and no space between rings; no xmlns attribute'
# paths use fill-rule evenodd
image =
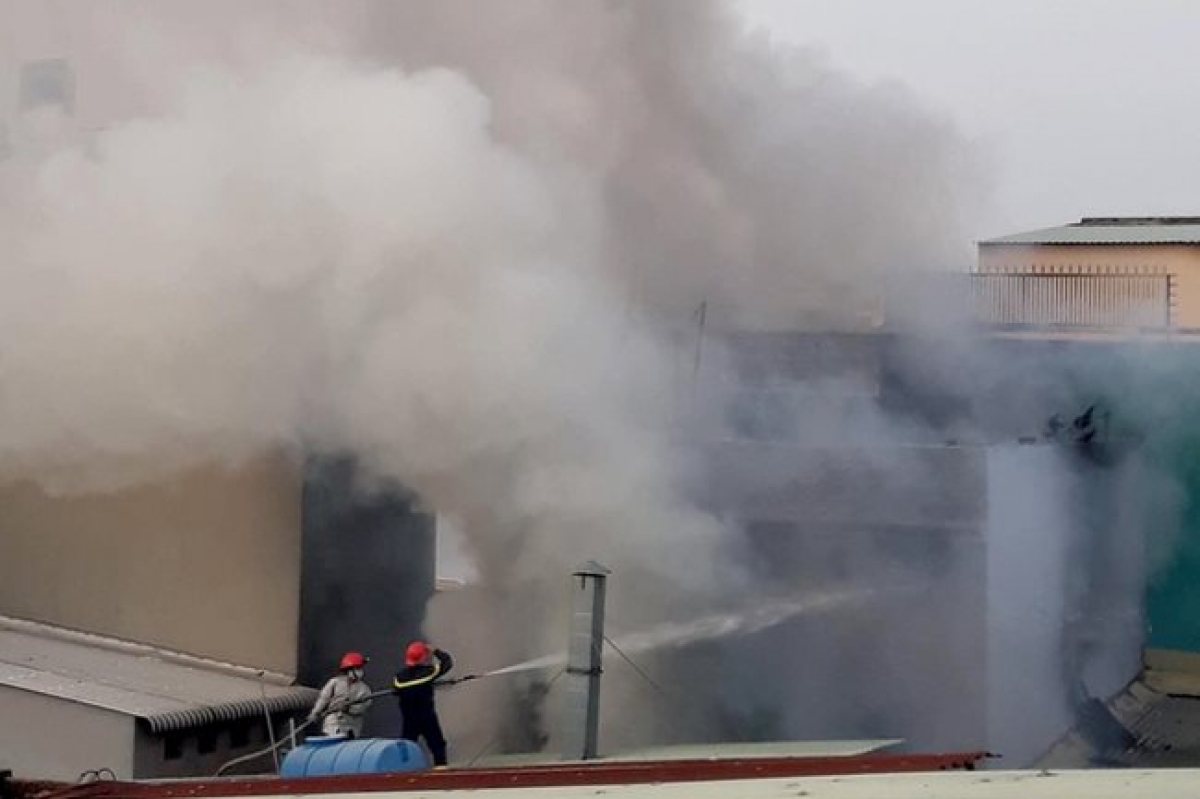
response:
<svg viewBox="0 0 1200 799"><path fill-rule="evenodd" d="M979 245L980 271L1139 270L1175 276L1175 325L1200 328L1200 246Z"/></svg>

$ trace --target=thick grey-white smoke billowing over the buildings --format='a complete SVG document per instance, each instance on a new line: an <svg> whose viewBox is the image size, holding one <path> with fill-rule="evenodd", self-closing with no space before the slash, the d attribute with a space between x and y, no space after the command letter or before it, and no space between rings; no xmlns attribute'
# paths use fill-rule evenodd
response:
<svg viewBox="0 0 1200 799"><path fill-rule="evenodd" d="M720 335L869 328L898 272L967 263L979 158L902 86L856 83L704 0L0 1L0 58L47 37L80 79L74 115L11 120L0 161L6 479L95 493L350 452L466 542L478 584L428 618L461 660L554 662L565 575L588 558L613 570L618 644L680 631L691 657L626 654L688 675L688 714L610 655L607 744L953 739L920 721L937 689L868 709L875 689L835 685L977 679L955 666L972 625L928 590L930 573L938 591L971 584L974 555L868 536L836 564L774 558L769 529L714 510L690 444L701 421L727 433L728 386L704 378L734 358ZM821 445L924 425L839 380L784 403ZM847 402L853 425L824 422ZM864 456L846 487L841 456L805 457L821 476L797 501L860 489L850 504L888 523L914 512L888 475L976 479ZM928 611L907 648L870 643L894 629L881 606ZM714 650L748 608L756 637ZM828 657L834 609L848 620ZM512 726L502 684L451 701L463 749Z"/></svg>

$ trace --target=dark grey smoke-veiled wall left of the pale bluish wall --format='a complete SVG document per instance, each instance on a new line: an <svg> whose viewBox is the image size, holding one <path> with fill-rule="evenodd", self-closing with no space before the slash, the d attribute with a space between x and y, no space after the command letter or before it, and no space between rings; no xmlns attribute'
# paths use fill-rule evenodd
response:
<svg viewBox="0 0 1200 799"><path fill-rule="evenodd" d="M756 590L863 595L661 656L678 695L696 697L661 734L983 746L984 450L743 441L703 457L702 497L739 521Z"/></svg>

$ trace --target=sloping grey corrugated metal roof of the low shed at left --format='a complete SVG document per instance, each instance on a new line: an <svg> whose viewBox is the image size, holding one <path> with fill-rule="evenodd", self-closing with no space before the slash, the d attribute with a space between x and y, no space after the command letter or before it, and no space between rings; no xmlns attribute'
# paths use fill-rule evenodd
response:
<svg viewBox="0 0 1200 799"><path fill-rule="evenodd" d="M216 666L172 662L119 642L84 643L53 627L0 619L0 686L32 691L144 720L151 732L300 710L312 689L281 686Z"/></svg>

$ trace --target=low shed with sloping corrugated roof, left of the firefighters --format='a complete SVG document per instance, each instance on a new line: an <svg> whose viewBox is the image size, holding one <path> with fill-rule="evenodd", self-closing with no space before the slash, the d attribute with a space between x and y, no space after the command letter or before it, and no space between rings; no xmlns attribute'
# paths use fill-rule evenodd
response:
<svg viewBox="0 0 1200 799"><path fill-rule="evenodd" d="M212 774L286 734L316 697L274 672L0 617L0 752L74 781Z"/></svg>

